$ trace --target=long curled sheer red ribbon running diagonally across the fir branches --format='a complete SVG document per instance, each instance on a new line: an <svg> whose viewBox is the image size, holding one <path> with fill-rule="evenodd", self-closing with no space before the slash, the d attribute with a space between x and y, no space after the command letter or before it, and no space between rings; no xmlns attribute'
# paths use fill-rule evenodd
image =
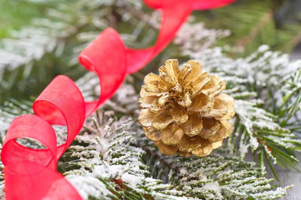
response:
<svg viewBox="0 0 301 200"><path fill-rule="evenodd" d="M75 83L59 75L34 102L36 115L22 115L12 121L1 153L5 165L6 198L82 199L56 167L57 160L79 133L85 118L114 94L126 74L141 69L171 42L193 9L211 9L233 1L144 0L148 6L162 9L157 43L145 49L127 48L114 29L104 30L79 55L80 63L98 74L101 88L98 100L85 102ZM57 146L56 134L50 124L67 125L66 143ZM25 147L15 140L22 137L36 139L46 148Z"/></svg>

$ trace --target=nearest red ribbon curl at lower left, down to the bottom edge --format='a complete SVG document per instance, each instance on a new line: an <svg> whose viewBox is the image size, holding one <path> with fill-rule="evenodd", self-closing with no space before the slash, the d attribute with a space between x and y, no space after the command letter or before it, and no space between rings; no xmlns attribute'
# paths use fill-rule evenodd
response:
<svg viewBox="0 0 301 200"><path fill-rule="evenodd" d="M2 161L5 164L7 198L21 199L22 196L23 199L41 199L54 180L48 171L56 170L55 132L41 117L22 115L12 121L8 133L2 149L2 154L6 155L2 156ZM36 139L47 148L37 150L25 147L15 140L21 137Z"/></svg>

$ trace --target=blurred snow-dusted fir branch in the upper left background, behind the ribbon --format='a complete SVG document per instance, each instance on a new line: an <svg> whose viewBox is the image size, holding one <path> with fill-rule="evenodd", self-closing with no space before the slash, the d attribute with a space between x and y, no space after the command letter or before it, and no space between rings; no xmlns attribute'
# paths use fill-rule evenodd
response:
<svg viewBox="0 0 301 200"><path fill-rule="evenodd" d="M141 3L137 0L76 0L59 2L54 8L48 7L45 10L44 18L35 18L32 24L24 26L21 30L11 32L10 38L0 41L0 69L8 68L13 70L16 67L27 64L32 67L34 60L39 60L47 53L56 50L55 54L60 56L66 45L66 39L76 35L81 44L74 48L74 53L78 53L93 40L103 29L111 26L114 19L110 16L109 5L119 6L119 14L126 10L122 9L124 3L131 3L135 8L141 8ZM131 13L123 17L128 20L133 17ZM82 31L81 27L92 25L94 31ZM133 35L122 35L125 40L131 40ZM26 69L30 70L30 69Z"/></svg>

